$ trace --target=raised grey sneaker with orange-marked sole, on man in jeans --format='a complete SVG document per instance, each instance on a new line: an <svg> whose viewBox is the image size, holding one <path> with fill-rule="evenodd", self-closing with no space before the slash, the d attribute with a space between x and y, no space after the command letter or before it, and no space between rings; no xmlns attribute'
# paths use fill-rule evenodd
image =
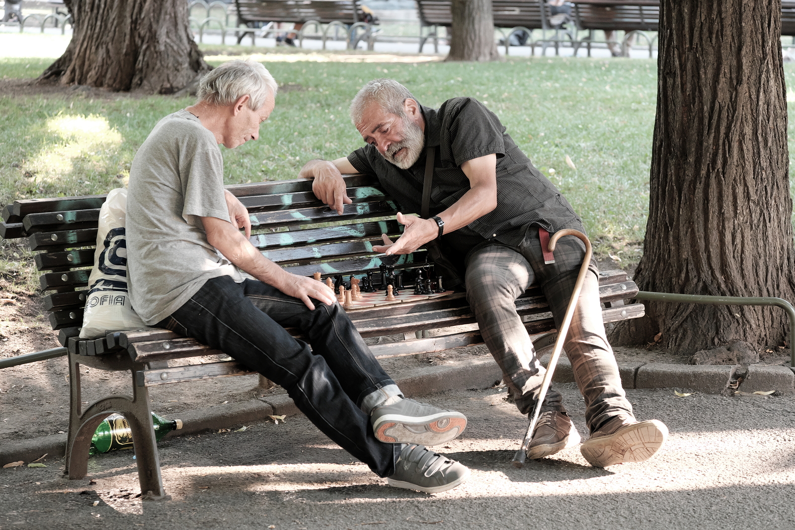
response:
<svg viewBox="0 0 795 530"><path fill-rule="evenodd" d="M467 427L467 416L402 399L386 407L374 408L370 423L375 437L385 443L437 445L460 435Z"/></svg>

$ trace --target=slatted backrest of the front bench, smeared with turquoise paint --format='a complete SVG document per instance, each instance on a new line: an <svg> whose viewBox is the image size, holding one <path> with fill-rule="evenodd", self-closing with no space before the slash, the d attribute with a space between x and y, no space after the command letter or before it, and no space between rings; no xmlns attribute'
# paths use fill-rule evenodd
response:
<svg viewBox="0 0 795 530"><path fill-rule="evenodd" d="M262 253L291 273L323 277L378 270L382 265L372 249L381 234L398 236L396 204L362 175L344 177L353 203L337 215L312 193L311 180L282 180L227 186L249 208L251 242ZM105 195L26 199L4 208L4 238L28 238L37 269L43 274L41 289L52 328L78 328L88 276L94 265L99 207ZM412 268L425 260L425 252L397 258L396 269ZM416 265L415 265L416 266Z"/></svg>

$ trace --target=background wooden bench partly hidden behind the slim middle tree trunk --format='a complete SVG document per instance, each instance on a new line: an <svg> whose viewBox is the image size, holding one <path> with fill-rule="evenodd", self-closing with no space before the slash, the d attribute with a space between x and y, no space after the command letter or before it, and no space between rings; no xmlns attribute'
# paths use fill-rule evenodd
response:
<svg viewBox="0 0 795 530"><path fill-rule="evenodd" d="M449 28L452 25L451 0L417 0L417 15L420 18L420 52L425 43L431 39L433 49L439 52L438 27ZM558 47L561 42L567 41L576 48L574 33L567 29L555 29L549 25L549 6L544 0L492 0L491 10L494 15L494 27L509 29L508 33L503 32L505 40L506 55L510 46L510 36L518 31L531 33L533 29L543 30L541 39L532 40L530 37L529 46L535 53L536 44L541 44L541 53L545 52L549 45ZM427 29L424 32L424 29Z"/></svg>

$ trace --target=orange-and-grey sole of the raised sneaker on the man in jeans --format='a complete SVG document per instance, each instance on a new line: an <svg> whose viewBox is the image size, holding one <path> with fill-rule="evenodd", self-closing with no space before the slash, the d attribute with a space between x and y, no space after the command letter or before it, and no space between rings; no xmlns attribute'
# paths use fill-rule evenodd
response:
<svg viewBox="0 0 795 530"><path fill-rule="evenodd" d="M387 414L378 418L373 431L385 443L417 443L427 447L449 442L466 427L467 418L460 412L423 417Z"/></svg>

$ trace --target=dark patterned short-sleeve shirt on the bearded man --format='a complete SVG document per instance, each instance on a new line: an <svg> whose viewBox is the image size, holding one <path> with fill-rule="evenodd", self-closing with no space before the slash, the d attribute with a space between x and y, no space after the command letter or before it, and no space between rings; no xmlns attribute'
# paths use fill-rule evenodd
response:
<svg viewBox="0 0 795 530"><path fill-rule="evenodd" d="M462 254L486 241L518 246L528 226L549 232L563 228L583 230L560 191L538 171L514 143L496 114L474 98L453 98L438 110L421 106L425 118L425 146L436 148L430 215L451 207L470 183L461 164L497 155L497 207L459 230L444 234L444 241ZM348 155L359 171L376 176L400 203L404 213L420 213L425 179L425 149L408 169L386 161L374 145Z"/></svg>

